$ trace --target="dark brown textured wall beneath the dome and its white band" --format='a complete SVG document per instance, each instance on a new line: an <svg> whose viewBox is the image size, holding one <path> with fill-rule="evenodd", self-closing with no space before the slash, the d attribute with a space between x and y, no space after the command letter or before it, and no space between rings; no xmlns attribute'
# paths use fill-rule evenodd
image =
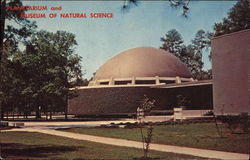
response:
<svg viewBox="0 0 250 160"><path fill-rule="evenodd" d="M212 85L178 88L106 87L78 90L69 100L68 112L76 115L108 115L135 113L144 95L156 100L157 108L173 109L178 94L190 101L187 109L212 109Z"/></svg>

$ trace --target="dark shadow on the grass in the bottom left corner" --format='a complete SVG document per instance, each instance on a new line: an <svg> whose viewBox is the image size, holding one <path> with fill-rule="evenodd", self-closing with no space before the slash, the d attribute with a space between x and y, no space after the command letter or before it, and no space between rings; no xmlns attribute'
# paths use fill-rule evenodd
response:
<svg viewBox="0 0 250 160"><path fill-rule="evenodd" d="M20 143L2 143L3 158L50 158L65 152L76 151L83 147L60 146L60 145L24 145Z"/></svg>

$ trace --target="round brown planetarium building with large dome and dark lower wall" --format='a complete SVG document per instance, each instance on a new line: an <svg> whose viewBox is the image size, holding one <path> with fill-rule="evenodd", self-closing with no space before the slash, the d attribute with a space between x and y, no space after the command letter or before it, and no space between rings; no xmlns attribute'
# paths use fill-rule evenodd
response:
<svg viewBox="0 0 250 160"><path fill-rule="evenodd" d="M68 112L75 115L129 115L146 95L157 111L178 107L212 109L212 82L192 78L187 66L164 50L139 47L125 50L104 63L88 86L75 88Z"/></svg>

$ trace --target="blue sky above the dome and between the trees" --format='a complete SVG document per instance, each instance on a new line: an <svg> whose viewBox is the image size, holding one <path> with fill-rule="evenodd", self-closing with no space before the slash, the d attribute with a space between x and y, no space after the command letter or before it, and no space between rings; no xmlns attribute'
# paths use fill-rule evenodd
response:
<svg viewBox="0 0 250 160"><path fill-rule="evenodd" d="M32 19L38 29L55 32L65 30L76 35L76 53L82 56L84 78L90 78L106 60L128 48L151 46L159 48L170 29L177 29L186 44L199 29L212 31L215 22L226 17L236 1L191 1L189 17L181 16L181 10L171 8L167 1L141 1L123 13L123 1L24 1L24 5L62 6L61 11L45 13L112 12L110 19ZM33 11L32 13L44 11ZM31 13L31 11L30 11ZM204 55L204 68L211 67ZM147 65L147 64L145 64Z"/></svg>

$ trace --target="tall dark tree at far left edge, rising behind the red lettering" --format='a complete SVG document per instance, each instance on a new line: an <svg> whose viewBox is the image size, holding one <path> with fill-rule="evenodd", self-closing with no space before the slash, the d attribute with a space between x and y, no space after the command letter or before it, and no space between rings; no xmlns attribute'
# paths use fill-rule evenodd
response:
<svg viewBox="0 0 250 160"><path fill-rule="evenodd" d="M18 51L18 45L20 43L26 43L27 38L33 33L36 25L25 18L21 18L20 15L25 12L25 10L6 10L9 6L22 6L20 0L7 1L1 0L1 10L0 10L0 117L3 118L2 114L2 102L4 101L3 82L6 81L8 77L7 72L7 59L10 55ZM8 23L6 25L6 22ZM16 24L14 25L10 24ZM5 91L6 92L6 91Z"/></svg>

